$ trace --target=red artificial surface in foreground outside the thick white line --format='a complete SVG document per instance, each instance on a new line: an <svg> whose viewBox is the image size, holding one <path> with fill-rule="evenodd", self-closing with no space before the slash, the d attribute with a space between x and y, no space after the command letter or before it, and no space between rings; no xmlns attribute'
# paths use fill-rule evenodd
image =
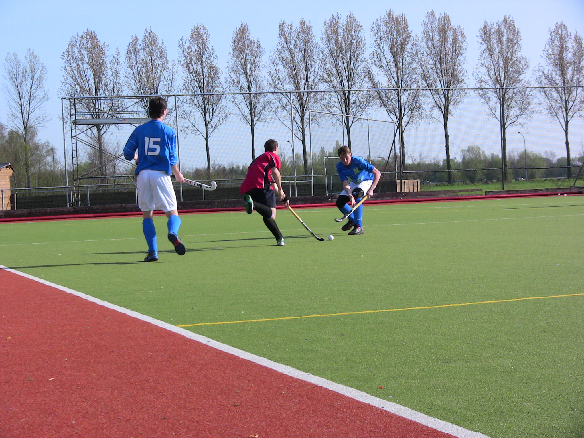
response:
<svg viewBox="0 0 584 438"><path fill-rule="evenodd" d="M453 436L5 269L0 331L2 438Z"/></svg>

